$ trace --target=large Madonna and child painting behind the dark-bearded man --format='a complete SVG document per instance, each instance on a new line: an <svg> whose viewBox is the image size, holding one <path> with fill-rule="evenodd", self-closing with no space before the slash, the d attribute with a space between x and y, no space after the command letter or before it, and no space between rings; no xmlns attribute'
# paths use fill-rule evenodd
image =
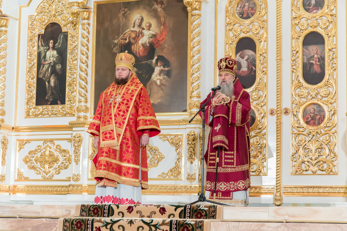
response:
<svg viewBox="0 0 347 231"><path fill-rule="evenodd" d="M187 112L188 11L183 0L96 4L94 109L115 79L115 58L135 57L133 72L155 113Z"/></svg>

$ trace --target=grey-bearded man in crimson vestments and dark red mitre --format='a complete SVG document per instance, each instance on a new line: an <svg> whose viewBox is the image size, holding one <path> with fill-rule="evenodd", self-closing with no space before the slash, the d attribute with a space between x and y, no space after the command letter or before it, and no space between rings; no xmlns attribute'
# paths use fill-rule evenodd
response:
<svg viewBox="0 0 347 231"><path fill-rule="evenodd" d="M210 191L210 200L247 206L251 184L248 124L251 102L249 94L235 78L236 65L236 61L228 57L218 61L218 85L221 89L205 107L205 123L211 127L204 156L207 164L206 190ZM206 103L212 93L201 104ZM218 146L217 190L214 195Z"/></svg>

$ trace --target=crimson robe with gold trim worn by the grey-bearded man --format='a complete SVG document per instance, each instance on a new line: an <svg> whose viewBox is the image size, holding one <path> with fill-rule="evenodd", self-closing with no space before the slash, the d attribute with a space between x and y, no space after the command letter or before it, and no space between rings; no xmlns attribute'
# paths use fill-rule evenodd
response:
<svg viewBox="0 0 347 231"><path fill-rule="evenodd" d="M212 92L201 105L211 95ZM216 106L214 111L212 100L205 106L205 123L211 127L204 156L207 164L206 190L213 194L217 148L220 146L216 186L216 199L219 200L232 199L232 192L246 190L250 186L248 114L251 102L238 79L234 81L234 96L229 103Z"/></svg>

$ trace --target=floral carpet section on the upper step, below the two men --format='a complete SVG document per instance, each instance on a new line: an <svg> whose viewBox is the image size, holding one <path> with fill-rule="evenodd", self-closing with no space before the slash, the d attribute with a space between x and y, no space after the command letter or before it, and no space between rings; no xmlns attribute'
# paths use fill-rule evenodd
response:
<svg viewBox="0 0 347 231"><path fill-rule="evenodd" d="M221 219L221 205L76 205L75 216L153 219Z"/></svg>

